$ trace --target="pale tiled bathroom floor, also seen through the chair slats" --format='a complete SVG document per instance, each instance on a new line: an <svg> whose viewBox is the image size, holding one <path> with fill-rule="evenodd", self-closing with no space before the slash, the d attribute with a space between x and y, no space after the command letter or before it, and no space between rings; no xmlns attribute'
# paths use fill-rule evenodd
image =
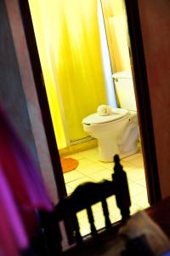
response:
<svg viewBox="0 0 170 256"><path fill-rule="evenodd" d="M77 159L79 165L72 172L64 174L65 184L68 195L83 182L98 182L104 178L111 179L113 163L103 163L99 161L98 148L89 149L77 154L71 154L69 157ZM146 184L144 178L144 163L141 153L133 154L122 161L123 169L127 172L132 207L131 214L140 209L149 207L147 200ZM116 207L115 196L107 199L110 218L114 222L121 219L119 209ZM105 226L105 221L100 204L93 207L95 226L100 229ZM78 212L78 221L82 236L90 232L86 211Z"/></svg>

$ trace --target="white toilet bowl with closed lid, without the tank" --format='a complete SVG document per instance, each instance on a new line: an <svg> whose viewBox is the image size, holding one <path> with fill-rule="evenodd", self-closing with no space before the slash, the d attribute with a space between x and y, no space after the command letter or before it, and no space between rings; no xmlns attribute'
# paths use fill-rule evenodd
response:
<svg viewBox="0 0 170 256"><path fill-rule="evenodd" d="M123 108L114 108L108 115L93 113L82 119L83 130L98 139L99 160L113 161L113 156L120 158L138 151L139 139L137 113Z"/></svg>

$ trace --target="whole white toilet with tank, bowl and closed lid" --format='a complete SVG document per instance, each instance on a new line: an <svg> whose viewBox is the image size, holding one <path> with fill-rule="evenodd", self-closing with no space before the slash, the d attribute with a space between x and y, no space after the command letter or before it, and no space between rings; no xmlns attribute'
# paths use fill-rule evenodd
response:
<svg viewBox="0 0 170 256"><path fill-rule="evenodd" d="M82 119L83 129L98 139L99 160L111 162L114 154L121 158L138 151L139 127L133 79L130 72L114 73L116 94L121 108L108 115L90 114Z"/></svg>

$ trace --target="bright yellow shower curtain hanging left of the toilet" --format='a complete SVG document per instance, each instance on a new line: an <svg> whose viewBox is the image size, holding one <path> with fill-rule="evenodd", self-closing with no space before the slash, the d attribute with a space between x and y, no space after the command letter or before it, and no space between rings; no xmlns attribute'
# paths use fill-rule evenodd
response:
<svg viewBox="0 0 170 256"><path fill-rule="evenodd" d="M88 135L82 119L107 103L97 0L29 0L59 148Z"/></svg>

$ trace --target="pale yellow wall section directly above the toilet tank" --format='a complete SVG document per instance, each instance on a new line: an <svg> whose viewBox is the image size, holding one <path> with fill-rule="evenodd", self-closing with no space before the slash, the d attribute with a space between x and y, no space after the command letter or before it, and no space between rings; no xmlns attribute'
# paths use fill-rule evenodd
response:
<svg viewBox="0 0 170 256"><path fill-rule="evenodd" d="M112 73L131 70L122 0L102 0Z"/></svg>

